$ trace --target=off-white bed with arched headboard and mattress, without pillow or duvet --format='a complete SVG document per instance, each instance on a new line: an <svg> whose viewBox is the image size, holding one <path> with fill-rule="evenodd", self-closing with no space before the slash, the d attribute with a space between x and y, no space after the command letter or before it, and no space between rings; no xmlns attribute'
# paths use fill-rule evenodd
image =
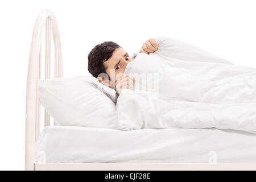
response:
<svg viewBox="0 0 256 182"><path fill-rule="evenodd" d="M55 15L43 10L32 36L27 77L26 170L254 170L256 134L217 129L144 129L119 131L92 127L50 126L44 111L40 130L38 80L42 69L42 34L46 28L45 78L63 77Z"/></svg>

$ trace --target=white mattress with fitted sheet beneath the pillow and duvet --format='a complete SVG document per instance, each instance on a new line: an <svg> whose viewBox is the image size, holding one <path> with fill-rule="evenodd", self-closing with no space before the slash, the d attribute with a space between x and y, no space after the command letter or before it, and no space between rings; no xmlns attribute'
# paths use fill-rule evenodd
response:
<svg viewBox="0 0 256 182"><path fill-rule="evenodd" d="M36 142L37 162L239 163L256 162L256 134L217 129L119 131L46 127Z"/></svg>

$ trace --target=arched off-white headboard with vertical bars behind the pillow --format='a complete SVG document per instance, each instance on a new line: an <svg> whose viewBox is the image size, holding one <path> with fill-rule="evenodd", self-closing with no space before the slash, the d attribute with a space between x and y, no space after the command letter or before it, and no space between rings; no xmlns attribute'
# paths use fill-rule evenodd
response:
<svg viewBox="0 0 256 182"><path fill-rule="evenodd" d="M55 48L54 76L63 77L63 62L59 28L51 10L43 10L36 19L30 47L26 93L26 151L25 169L34 170L35 142L40 134L40 100L38 80L41 78L42 34L46 27L46 78L51 77L51 33ZM45 116L45 126L49 126L49 115ZM56 123L56 121L55 121Z"/></svg>

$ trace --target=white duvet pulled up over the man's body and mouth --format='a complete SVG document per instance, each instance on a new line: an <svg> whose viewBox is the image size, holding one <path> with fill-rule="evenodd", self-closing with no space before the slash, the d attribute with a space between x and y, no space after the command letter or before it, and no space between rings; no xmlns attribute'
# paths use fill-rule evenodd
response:
<svg viewBox="0 0 256 182"><path fill-rule="evenodd" d="M256 131L256 69L178 40L155 40L158 51L139 53L126 67L125 73L135 77L135 89L123 89L118 97L119 129ZM154 92L144 89L149 81Z"/></svg>

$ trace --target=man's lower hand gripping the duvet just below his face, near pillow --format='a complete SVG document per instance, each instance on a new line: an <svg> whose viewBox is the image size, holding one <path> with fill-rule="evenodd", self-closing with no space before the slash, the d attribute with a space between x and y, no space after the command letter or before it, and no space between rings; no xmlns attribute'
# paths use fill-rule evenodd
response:
<svg viewBox="0 0 256 182"><path fill-rule="evenodd" d="M115 81L115 92L120 95L122 89L133 90L134 87L134 77L131 75L122 75Z"/></svg>

